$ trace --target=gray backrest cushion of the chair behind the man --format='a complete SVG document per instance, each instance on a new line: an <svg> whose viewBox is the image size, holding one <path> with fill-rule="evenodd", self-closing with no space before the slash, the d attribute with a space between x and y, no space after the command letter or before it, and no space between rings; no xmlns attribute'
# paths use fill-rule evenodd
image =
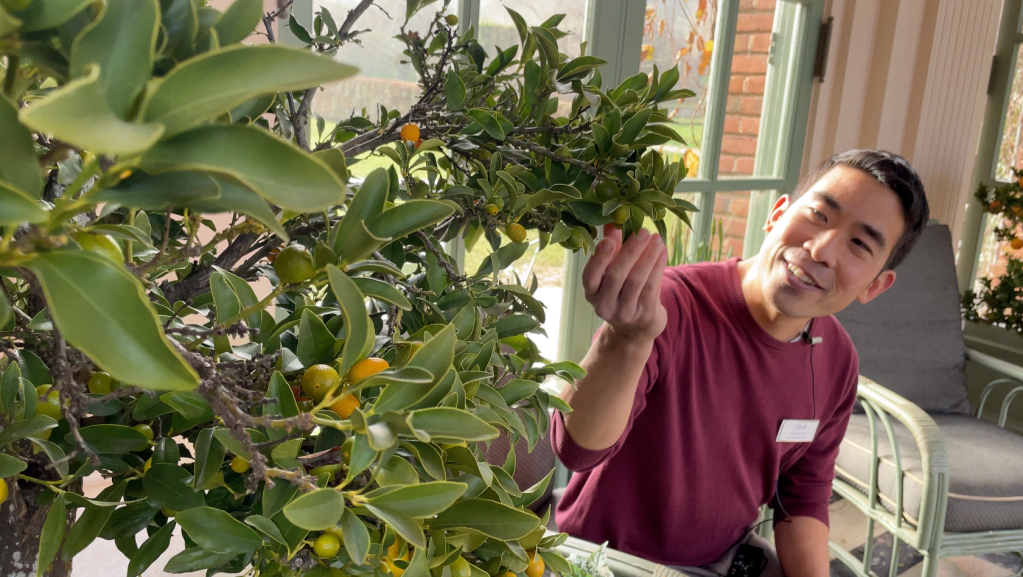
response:
<svg viewBox="0 0 1023 577"><path fill-rule="evenodd" d="M859 372L927 412L967 413L966 346L948 227L924 229L895 284L835 316L859 353Z"/></svg>

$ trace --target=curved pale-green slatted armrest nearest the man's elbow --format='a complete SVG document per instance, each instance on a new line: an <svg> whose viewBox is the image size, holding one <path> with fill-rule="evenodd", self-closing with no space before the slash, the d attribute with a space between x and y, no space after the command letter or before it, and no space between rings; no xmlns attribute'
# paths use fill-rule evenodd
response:
<svg viewBox="0 0 1023 577"><path fill-rule="evenodd" d="M892 458L897 472L896 482L896 514L895 523L901 525L902 517L902 461L895 430L891 418L895 418L908 430L920 451L921 469L923 470L923 495L917 520L918 546L928 544L940 538L944 530L945 507L948 495L948 456L945 452L944 436L934 419L922 408L894 392L878 385L864 376L859 378L856 393L860 404L866 412L871 428L871 488L872 506L878 500L878 441L876 419L881 419L892 448Z"/></svg>

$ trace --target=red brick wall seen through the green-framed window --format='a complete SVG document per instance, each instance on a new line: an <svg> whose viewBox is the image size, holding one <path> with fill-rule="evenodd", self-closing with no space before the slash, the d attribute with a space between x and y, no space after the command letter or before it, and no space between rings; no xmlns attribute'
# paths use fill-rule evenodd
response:
<svg viewBox="0 0 1023 577"><path fill-rule="evenodd" d="M753 174L775 2L742 0L740 3L718 165L718 174L723 177ZM742 256L749 210L749 191L718 192L716 195L714 220L722 221L725 254L730 250L732 256Z"/></svg>

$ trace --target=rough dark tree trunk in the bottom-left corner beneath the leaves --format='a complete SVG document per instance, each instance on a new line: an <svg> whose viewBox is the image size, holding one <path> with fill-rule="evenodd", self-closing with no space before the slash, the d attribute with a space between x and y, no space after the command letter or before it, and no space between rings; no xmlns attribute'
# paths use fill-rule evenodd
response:
<svg viewBox="0 0 1023 577"><path fill-rule="evenodd" d="M49 505L39 505L39 496L45 487L36 483L7 480L10 496L0 504L0 575L5 577L35 577L39 559L39 535ZM77 483L79 490L81 482ZM74 509L69 508L68 527L75 521ZM64 563L60 554L53 561L47 577L70 577L71 562Z"/></svg>

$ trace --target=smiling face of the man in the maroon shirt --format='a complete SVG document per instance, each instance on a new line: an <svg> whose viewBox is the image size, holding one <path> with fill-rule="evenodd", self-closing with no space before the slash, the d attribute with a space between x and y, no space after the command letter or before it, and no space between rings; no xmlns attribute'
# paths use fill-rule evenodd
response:
<svg viewBox="0 0 1023 577"><path fill-rule="evenodd" d="M895 281L882 269L904 228L894 192L836 166L794 203L783 196L774 206L757 266L764 298L794 318L870 302Z"/></svg>

